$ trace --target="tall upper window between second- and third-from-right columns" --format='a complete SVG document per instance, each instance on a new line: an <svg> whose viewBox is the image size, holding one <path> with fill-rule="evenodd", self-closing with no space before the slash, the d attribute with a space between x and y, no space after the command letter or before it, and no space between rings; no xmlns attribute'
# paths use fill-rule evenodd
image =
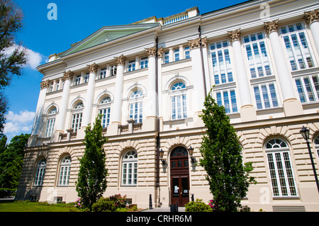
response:
<svg viewBox="0 0 319 226"><path fill-rule="evenodd" d="M264 34L259 32L245 35L243 40L252 79L271 75Z"/></svg>

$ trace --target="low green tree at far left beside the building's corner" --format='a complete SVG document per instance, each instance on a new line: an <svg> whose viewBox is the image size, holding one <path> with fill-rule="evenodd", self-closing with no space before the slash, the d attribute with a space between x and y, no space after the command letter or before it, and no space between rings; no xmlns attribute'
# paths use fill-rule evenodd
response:
<svg viewBox="0 0 319 226"><path fill-rule="evenodd" d="M6 145L6 136L0 140L0 188L17 188L23 164L24 148L30 134L12 138Z"/></svg>

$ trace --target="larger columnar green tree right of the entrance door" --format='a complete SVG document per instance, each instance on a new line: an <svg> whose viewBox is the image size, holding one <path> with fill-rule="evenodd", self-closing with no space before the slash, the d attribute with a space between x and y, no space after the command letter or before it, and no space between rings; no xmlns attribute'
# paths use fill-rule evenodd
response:
<svg viewBox="0 0 319 226"><path fill-rule="evenodd" d="M225 108L218 106L211 92L205 99L201 115L207 130L201 143L203 159L200 164L208 174L206 179L213 195L213 210L235 212L254 181L248 174L252 171L252 163L242 163L242 149L235 129L230 125Z"/></svg>

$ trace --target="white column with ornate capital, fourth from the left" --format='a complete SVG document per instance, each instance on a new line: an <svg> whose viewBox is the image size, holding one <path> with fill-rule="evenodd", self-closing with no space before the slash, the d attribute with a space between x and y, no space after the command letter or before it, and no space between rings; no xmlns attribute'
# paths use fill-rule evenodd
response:
<svg viewBox="0 0 319 226"><path fill-rule="evenodd" d="M124 55L114 57L116 60L116 91L114 95L114 102L111 108L111 125L108 125L107 135L117 135L118 125L122 121L122 96L123 96L123 79L124 79L124 65L126 58Z"/></svg>

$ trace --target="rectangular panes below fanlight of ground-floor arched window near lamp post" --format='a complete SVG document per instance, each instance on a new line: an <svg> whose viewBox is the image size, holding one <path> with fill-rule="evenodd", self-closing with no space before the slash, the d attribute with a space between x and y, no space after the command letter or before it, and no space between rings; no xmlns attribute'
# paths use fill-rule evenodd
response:
<svg viewBox="0 0 319 226"><path fill-rule="evenodd" d="M289 152L268 153L267 159L273 195L276 197L297 196Z"/></svg>

